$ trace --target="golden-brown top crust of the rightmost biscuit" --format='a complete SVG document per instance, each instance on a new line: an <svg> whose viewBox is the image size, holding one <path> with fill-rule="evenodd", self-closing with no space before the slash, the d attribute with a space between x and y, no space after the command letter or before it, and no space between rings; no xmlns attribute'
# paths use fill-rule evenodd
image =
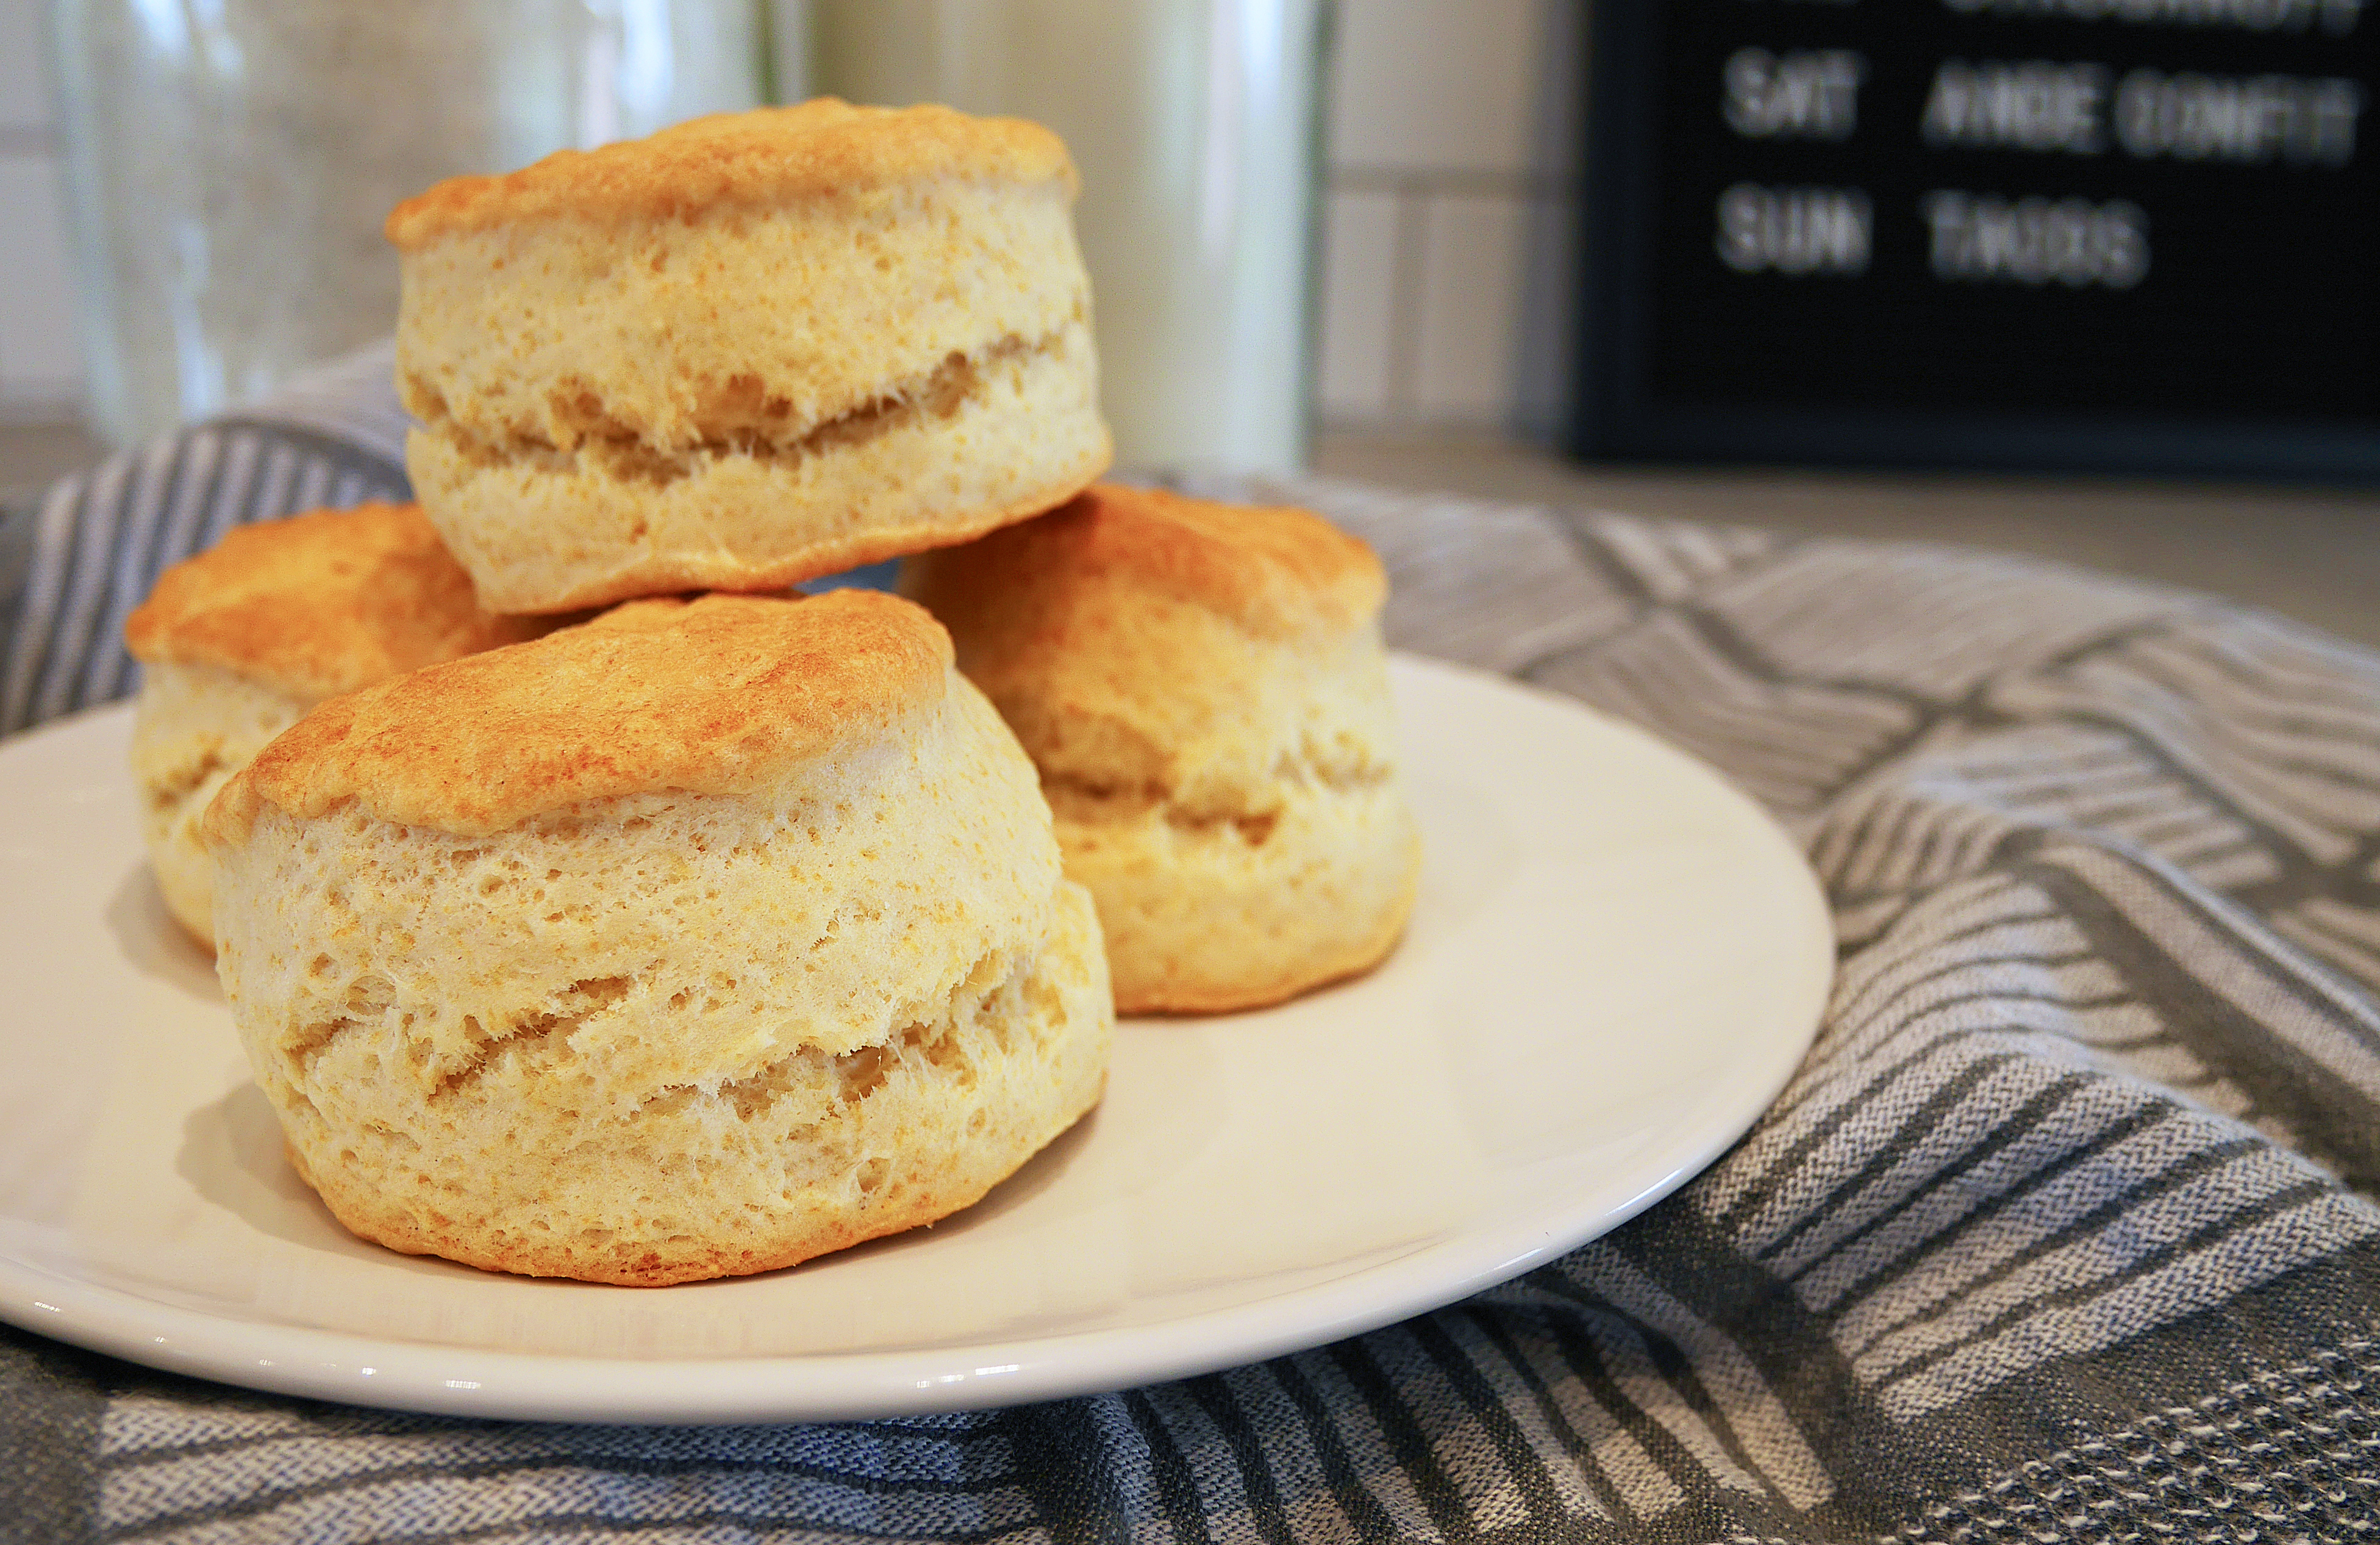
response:
<svg viewBox="0 0 2380 1545"><path fill-rule="evenodd" d="M1269 638L1342 633L1388 600L1371 548L1311 509L1119 483L1092 483L1040 519L928 555L921 567L933 593L1123 583ZM935 605L935 595L926 600Z"/></svg>

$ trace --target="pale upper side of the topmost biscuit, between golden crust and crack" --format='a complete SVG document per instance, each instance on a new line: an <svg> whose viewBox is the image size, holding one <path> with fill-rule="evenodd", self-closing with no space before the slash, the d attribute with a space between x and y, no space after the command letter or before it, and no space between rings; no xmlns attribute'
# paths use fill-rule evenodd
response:
<svg viewBox="0 0 2380 1545"><path fill-rule="evenodd" d="M854 188L407 252L400 390L471 459L666 478L885 433L1088 321L1064 186Z"/></svg>

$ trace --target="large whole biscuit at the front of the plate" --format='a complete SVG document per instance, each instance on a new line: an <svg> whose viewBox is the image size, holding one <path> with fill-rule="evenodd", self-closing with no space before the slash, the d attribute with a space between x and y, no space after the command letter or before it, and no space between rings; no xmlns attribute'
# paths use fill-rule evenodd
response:
<svg viewBox="0 0 2380 1545"><path fill-rule="evenodd" d="M1107 1074L1033 764L890 595L638 602L338 698L205 836L290 1155L395 1250L769 1271L966 1207Z"/></svg>

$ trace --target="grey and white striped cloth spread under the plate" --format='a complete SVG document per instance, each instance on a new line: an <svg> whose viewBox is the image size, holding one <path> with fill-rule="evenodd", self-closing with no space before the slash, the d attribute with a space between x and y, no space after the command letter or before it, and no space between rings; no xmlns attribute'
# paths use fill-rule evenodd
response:
<svg viewBox="0 0 2380 1545"><path fill-rule="evenodd" d="M5 724L129 688L228 524L402 488L386 355L60 483ZM1645 724L1828 881L1818 1045L1711 1171L1340 1345L923 1421L571 1428L0 1333L29 1540L2380 1535L2380 657L2052 564L1326 481L1404 648Z"/></svg>

